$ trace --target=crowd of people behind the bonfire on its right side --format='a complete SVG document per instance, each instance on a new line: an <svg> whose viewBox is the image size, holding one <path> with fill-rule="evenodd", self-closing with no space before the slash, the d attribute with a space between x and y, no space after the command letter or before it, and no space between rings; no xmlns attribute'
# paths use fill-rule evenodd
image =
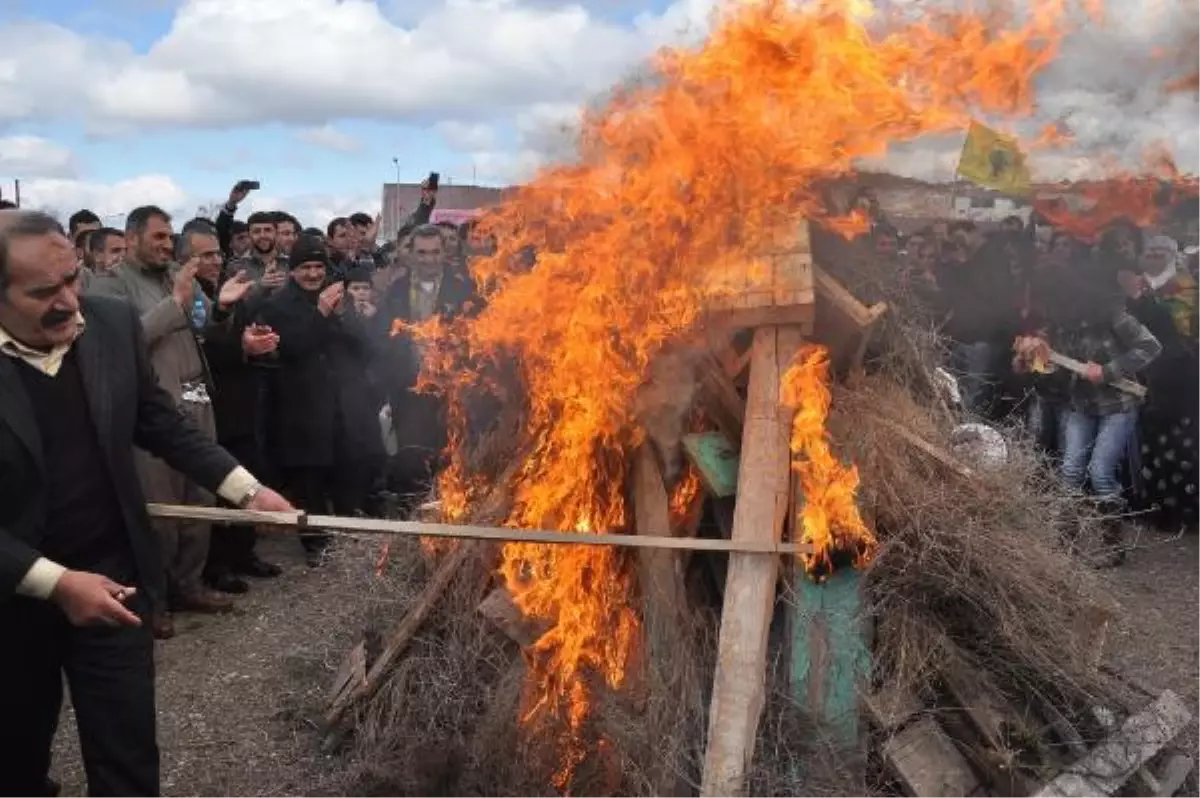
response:
<svg viewBox="0 0 1200 798"><path fill-rule="evenodd" d="M1135 522L1200 520L1200 220L1118 220L1080 238L1036 211L908 235L874 217L876 256L948 340L962 409L1026 425L1063 482L1097 500L1109 564ZM1051 352L1084 370L1054 367Z"/></svg>

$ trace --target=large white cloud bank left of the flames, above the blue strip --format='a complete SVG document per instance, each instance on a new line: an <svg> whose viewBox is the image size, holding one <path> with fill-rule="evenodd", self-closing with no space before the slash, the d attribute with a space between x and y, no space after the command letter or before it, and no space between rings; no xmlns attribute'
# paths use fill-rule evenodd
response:
<svg viewBox="0 0 1200 798"><path fill-rule="evenodd" d="M145 53L19 22L0 31L0 119L319 126L582 102L710 1L623 26L577 4L440 0L401 26L368 0L187 0Z"/></svg>

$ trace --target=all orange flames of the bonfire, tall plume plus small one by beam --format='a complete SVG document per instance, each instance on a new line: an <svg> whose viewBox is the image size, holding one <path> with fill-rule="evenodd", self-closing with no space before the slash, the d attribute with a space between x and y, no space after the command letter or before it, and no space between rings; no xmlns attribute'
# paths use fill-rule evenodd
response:
<svg viewBox="0 0 1200 798"><path fill-rule="evenodd" d="M702 320L698 287L714 282L714 264L754 260L802 217L853 227L830 218L818 186L890 142L1028 112L1069 2L1034 2L1024 22L931 11L870 28L864 0L731 2L702 47L660 53L647 80L588 114L578 162L542 172L484 221L499 244L473 264L484 310L430 334L458 353L426 366L460 408L456 424L490 365L516 362L527 454L508 523L626 530L622 482L641 443L634 400L654 356ZM528 247L535 265L523 263ZM806 534L818 534L818 511L835 542L863 534L846 509L853 469L834 470L815 431L800 440ZM448 454L440 496L466 506L460 499L478 494L466 446ZM502 572L521 610L551 625L534 647L526 716L565 720L565 786L594 686L625 678L640 631L634 581L628 562L600 547L509 545Z"/></svg>

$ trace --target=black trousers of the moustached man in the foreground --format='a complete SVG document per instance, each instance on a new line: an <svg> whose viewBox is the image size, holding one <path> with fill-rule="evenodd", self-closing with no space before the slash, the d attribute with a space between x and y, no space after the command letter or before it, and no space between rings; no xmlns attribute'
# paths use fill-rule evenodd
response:
<svg viewBox="0 0 1200 798"><path fill-rule="evenodd" d="M140 594L130 602L137 629L78 628L49 601L0 601L0 794L46 794L65 674L89 798L158 796L149 607Z"/></svg>

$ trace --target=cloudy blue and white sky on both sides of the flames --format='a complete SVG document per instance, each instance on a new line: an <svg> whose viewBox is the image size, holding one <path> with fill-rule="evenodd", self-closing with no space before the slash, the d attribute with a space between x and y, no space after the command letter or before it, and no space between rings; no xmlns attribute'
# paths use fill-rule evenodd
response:
<svg viewBox="0 0 1200 798"><path fill-rule="evenodd" d="M712 1L5 0L0 186L11 197L19 178L28 205L115 221L146 202L190 216L247 178L262 206L323 223L378 209L392 158L406 181L520 180L562 151L582 102L701 35ZM1166 142L1200 172L1196 97L1160 90L1182 68L1174 53L1200 50L1195 2L1110 0L1111 23L1046 76L1042 115L1081 152L1135 162ZM892 166L946 180L956 146L906 148Z"/></svg>

